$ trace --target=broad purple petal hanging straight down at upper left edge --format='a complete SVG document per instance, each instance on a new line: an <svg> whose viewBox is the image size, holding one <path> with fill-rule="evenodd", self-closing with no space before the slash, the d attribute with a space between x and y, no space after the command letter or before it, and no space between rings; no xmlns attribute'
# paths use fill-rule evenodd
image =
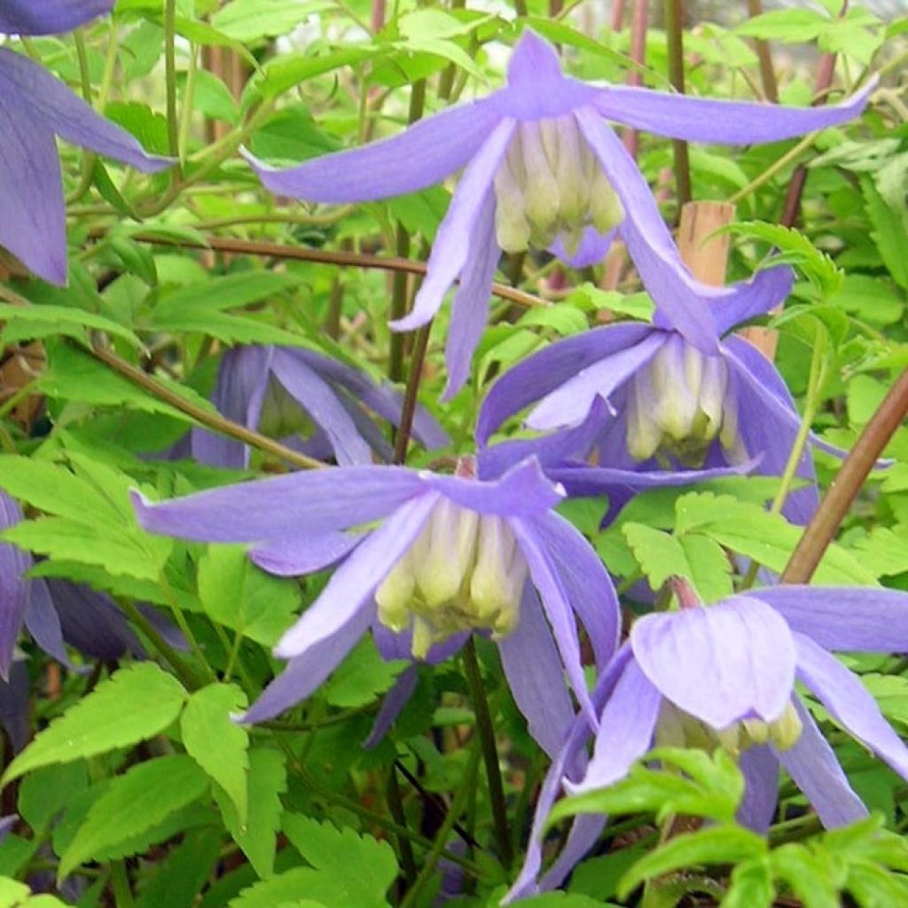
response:
<svg viewBox="0 0 908 908"><path fill-rule="evenodd" d="M0 245L45 281L66 282L63 179L54 133L26 114L5 84L12 51L0 47ZM37 64L32 64L37 66ZM12 89L15 91L15 89Z"/></svg>

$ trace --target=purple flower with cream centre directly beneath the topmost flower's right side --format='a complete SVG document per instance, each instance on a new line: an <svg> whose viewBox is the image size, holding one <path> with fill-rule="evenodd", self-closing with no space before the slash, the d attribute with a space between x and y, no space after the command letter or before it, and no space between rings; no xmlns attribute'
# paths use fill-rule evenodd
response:
<svg viewBox="0 0 908 908"><path fill-rule="evenodd" d="M753 344L722 334L783 301L791 281L787 268L762 271L742 285L753 292L740 306L717 306L710 353L687 341L664 315L662 324L621 322L556 341L491 387L479 412L479 443L532 405L526 425L551 432L550 447L579 459L596 449L609 469L683 473L756 460L756 473L781 476L801 426L795 401ZM655 299L659 311L661 294ZM708 301L699 302L708 309ZM579 442L572 450L566 443L571 439ZM841 453L813 434L808 442L797 469L808 483L785 505L785 516L796 523L806 523L817 503L809 448ZM531 442L524 445L532 450ZM497 459L507 463L507 451ZM567 470L555 475L571 495L603 484L596 469L573 478Z"/></svg>

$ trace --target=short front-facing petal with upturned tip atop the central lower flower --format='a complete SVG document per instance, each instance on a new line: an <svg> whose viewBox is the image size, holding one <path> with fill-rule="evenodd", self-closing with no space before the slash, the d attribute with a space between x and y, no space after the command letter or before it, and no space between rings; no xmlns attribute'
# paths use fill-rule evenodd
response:
<svg viewBox="0 0 908 908"><path fill-rule="evenodd" d="M462 508L499 517L533 517L545 514L564 500L564 492L551 482L536 459L508 470L501 479L479 482L428 471L419 474L424 487L450 498Z"/></svg>

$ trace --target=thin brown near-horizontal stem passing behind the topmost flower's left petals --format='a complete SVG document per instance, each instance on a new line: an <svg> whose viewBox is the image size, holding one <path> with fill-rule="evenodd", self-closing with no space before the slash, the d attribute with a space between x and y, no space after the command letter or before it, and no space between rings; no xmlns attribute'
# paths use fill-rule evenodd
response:
<svg viewBox="0 0 908 908"><path fill-rule="evenodd" d="M103 236L106 231L91 232L91 236ZM215 252L236 252L240 255L262 255L270 259L287 259L297 262L319 262L327 265L341 265L350 268L378 268L382 271L408 271L410 274L425 274L426 262L410 259L387 258L381 255L366 255L361 252L331 252L325 249L309 249L301 246L286 246L280 242L260 240L238 240L233 237L206 236L202 241L156 236L150 233L133 233L130 239L147 242L153 246L177 246L181 249L213 249ZM499 299L515 302L518 306L548 306L532 293L493 283L491 292Z"/></svg>

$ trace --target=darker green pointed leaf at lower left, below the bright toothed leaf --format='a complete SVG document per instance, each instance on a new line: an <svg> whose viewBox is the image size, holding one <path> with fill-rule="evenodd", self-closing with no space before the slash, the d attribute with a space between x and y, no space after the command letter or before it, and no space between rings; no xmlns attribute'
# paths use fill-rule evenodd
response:
<svg viewBox="0 0 908 908"><path fill-rule="evenodd" d="M161 823L200 797L207 785L202 770L182 754L134 765L111 780L94 803L60 856L58 877L64 879L79 864Z"/></svg>

